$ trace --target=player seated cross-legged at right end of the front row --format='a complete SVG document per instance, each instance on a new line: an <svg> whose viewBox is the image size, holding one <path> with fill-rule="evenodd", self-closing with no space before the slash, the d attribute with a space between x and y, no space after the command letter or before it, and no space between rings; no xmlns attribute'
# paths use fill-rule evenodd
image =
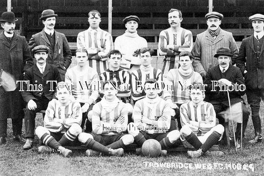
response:
<svg viewBox="0 0 264 176"><path fill-rule="evenodd" d="M220 157L221 151L208 151L222 138L224 127L216 125L216 116L213 106L203 101L205 93L201 84L193 84L190 89L191 101L180 107L180 130L181 140L186 148L195 148L195 151L188 151L191 158L198 158L208 154Z"/></svg>

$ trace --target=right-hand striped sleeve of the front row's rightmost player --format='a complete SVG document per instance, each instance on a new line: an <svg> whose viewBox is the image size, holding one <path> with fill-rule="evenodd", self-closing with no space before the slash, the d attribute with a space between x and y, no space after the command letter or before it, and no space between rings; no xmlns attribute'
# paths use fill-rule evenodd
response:
<svg viewBox="0 0 264 176"><path fill-rule="evenodd" d="M207 116L205 118L205 123L200 124L199 130L201 132L209 132L211 128L216 125L216 115L211 103L206 103L207 105Z"/></svg>

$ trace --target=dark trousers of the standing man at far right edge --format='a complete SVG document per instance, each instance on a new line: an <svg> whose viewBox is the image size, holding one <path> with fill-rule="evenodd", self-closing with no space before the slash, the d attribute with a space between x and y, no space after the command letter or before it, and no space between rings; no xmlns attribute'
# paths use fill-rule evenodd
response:
<svg viewBox="0 0 264 176"><path fill-rule="evenodd" d="M255 130L255 136L262 137L261 131L261 117L260 117L260 102L264 100L264 90L254 89L246 91L248 103L251 107L251 117Z"/></svg>

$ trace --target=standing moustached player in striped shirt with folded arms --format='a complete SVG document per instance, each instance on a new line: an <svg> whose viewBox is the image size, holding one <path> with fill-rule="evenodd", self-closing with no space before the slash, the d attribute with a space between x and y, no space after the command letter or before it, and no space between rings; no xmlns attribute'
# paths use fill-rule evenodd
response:
<svg viewBox="0 0 264 176"><path fill-rule="evenodd" d="M170 9L168 13L170 28L159 34L158 51L164 55L162 73L166 77L170 69L179 67L179 54L181 51L191 52L193 48L192 32L181 27L182 13L177 9Z"/></svg>

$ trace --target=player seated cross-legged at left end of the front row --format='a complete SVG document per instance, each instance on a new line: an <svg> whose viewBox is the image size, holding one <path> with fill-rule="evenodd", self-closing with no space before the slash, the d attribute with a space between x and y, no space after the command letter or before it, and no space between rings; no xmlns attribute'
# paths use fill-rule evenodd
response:
<svg viewBox="0 0 264 176"><path fill-rule="evenodd" d="M57 84L56 97L49 102L44 118L44 127L37 127L36 134L45 146L38 147L39 153L60 152L64 157L72 151L63 146L78 145L77 136L82 132L81 105L71 99L69 86L60 82Z"/></svg>

